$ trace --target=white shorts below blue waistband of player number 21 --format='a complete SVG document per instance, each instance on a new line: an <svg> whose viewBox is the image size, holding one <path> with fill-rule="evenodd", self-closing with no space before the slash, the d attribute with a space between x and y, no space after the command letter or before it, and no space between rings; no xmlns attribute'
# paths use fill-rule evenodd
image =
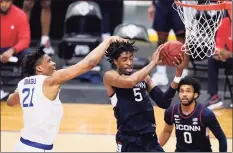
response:
<svg viewBox="0 0 233 153"><path fill-rule="evenodd" d="M18 141L15 144L14 152L53 152L53 149L52 150L39 149L39 148L25 145L21 141Z"/></svg>

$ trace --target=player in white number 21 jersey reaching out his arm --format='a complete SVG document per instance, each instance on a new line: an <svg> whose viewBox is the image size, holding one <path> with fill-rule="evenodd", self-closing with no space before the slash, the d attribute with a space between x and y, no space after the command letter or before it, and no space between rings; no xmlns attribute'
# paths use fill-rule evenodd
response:
<svg viewBox="0 0 233 153"><path fill-rule="evenodd" d="M53 149L63 115L59 99L61 85L96 66L114 41L126 40L110 37L79 63L58 71L56 64L44 53L43 46L25 56L22 69L29 77L18 83L15 93L7 100L9 106L21 104L23 110L24 128L15 151L44 152Z"/></svg>

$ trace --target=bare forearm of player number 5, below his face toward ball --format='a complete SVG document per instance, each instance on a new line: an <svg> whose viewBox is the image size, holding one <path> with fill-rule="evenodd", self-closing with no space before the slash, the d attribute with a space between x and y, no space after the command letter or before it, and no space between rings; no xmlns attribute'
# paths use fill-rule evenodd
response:
<svg viewBox="0 0 233 153"><path fill-rule="evenodd" d="M133 82L133 86L138 84L140 81L144 80L155 66L156 66L155 62L151 61L147 66L133 73L129 77L129 80L132 80Z"/></svg>

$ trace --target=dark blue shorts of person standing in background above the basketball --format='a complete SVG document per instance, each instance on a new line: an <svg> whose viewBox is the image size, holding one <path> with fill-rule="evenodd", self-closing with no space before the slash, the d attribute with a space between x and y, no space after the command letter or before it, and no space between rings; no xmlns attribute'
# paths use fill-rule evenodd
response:
<svg viewBox="0 0 233 153"><path fill-rule="evenodd" d="M173 29L176 34L185 32L184 24L172 3L155 4L153 29L157 32L169 32Z"/></svg>

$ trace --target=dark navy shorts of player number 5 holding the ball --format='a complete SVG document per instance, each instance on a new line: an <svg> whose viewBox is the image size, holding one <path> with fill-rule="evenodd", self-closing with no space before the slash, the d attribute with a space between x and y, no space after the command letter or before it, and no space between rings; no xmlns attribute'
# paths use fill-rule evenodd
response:
<svg viewBox="0 0 233 153"><path fill-rule="evenodd" d="M142 136L116 135L118 152L164 152L155 133Z"/></svg>

